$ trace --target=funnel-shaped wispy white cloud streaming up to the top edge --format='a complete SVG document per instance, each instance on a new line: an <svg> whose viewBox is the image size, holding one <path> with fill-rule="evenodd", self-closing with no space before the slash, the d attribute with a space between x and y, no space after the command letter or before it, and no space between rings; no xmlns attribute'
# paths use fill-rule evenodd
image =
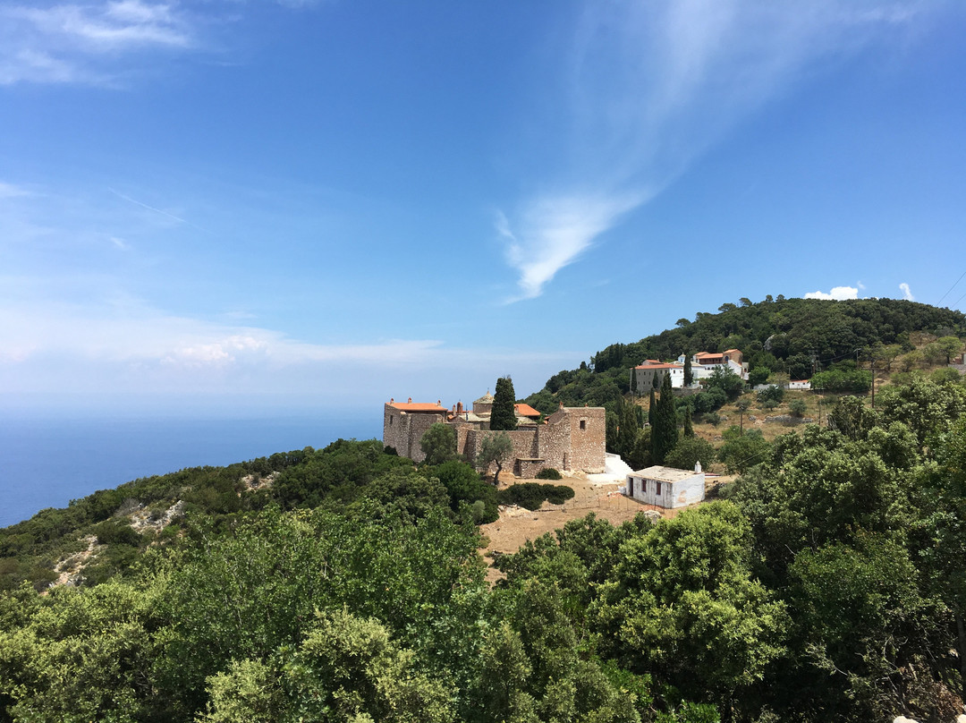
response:
<svg viewBox="0 0 966 723"><path fill-rule="evenodd" d="M588 3L564 66L565 171L497 222L518 299L800 78L919 13L915 0ZM593 188L593 191L586 191ZM602 190L603 189L603 190Z"/></svg>

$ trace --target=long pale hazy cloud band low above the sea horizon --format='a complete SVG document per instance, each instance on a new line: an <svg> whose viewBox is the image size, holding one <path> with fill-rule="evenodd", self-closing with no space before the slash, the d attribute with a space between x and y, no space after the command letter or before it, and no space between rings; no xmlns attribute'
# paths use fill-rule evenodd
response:
<svg viewBox="0 0 966 723"><path fill-rule="evenodd" d="M83 392L117 403L162 394L202 406L218 394L303 402L321 395L355 405L404 394L455 401L491 386L495 369L524 369L520 389L536 389L576 356L435 339L315 343L164 313L129 296L110 304L0 304L0 338L0 396Z"/></svg>

